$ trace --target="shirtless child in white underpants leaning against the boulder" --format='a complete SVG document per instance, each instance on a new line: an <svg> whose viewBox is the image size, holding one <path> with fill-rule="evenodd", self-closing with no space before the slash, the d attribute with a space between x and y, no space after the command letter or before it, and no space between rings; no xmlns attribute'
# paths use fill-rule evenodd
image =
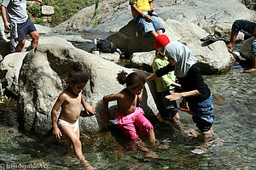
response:
<svg viewBox="0 0 256 170"><path fill-rule="evenodd" d="M53 135L56 139L61 139L62 134L71 142L71 147L81 164L87 169L95 169L85 160L82 153L82 144L79 140L79 116L81 104L89 115L89 112L96 114L94 107L87 105L82 90L88 80L90 73L81 69L79 63L73 63L73 70L69 72L67 79L68 88L60 95L51 111ZM57 111L61 107L61 114L57 120Z"/></svg>

